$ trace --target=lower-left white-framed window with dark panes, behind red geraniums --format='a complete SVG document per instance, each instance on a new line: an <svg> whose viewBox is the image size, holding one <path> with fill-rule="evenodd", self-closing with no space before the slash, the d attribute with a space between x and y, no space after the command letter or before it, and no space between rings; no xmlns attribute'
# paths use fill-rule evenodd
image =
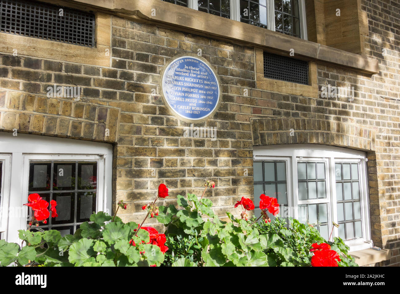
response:
<svg viewBox="0 0 400 294"><path fill-rule="evenodd" d="M38 193L57 202L58 217L32 230L74 234L93 212L111 214L112 146L106 143L12 133L0 134L1 238L19 243L32 210L23 204Z"/></svg>

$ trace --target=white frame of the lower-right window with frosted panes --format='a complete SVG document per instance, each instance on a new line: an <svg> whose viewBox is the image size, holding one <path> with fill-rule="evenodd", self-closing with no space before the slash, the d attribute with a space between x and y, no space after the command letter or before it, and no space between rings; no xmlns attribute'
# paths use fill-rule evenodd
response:
<svg viewBox="0 0 400 294"><path fill-rule="evenodd" d="M254 146L253 160L274 160L274 158L288 158L290 161L287 165L288 178L288 203L293 203L294 207L289 209L289 217L298 218L297 207L302 202L310 200L298 200L298 178L297 178L297 162L298 160L324 160L328 162L326 169L329 170L326 177L327 182L327 197L329 197L330 210L328 211L328 228L329 234L332 229L332 221L338 222L337 209L336 209L336 177L335 177L335 163L336 162L361 162L358 165L359 183L360 183L360 205L361 205L361 218L362 218L362 233L363 237L355 240L345 241L346 245L350 246L350 252L371 248L373 246L371 240L371 224L370 224L370 205L368 195L368 179L366 168L366 155L364 152L340 148L334 146L325 146L317 144L287 144L287 145L272 145L272 146ZM328 178L330 178L328 180ZM291 180L289 182L289 180ZM290 195L292 202L290 202ZM329 196L328 196L329 195ZM256 200L257 195L254 195ZM325 198L323 198L325 200ZM312 200L320 203L319 199ZM326 202L326 201L323 201ZM306 203L304 203L306 204ZM290 205L290 204L289 204ZM332 236L338 236L338 229L334 227Z"/></svg>

